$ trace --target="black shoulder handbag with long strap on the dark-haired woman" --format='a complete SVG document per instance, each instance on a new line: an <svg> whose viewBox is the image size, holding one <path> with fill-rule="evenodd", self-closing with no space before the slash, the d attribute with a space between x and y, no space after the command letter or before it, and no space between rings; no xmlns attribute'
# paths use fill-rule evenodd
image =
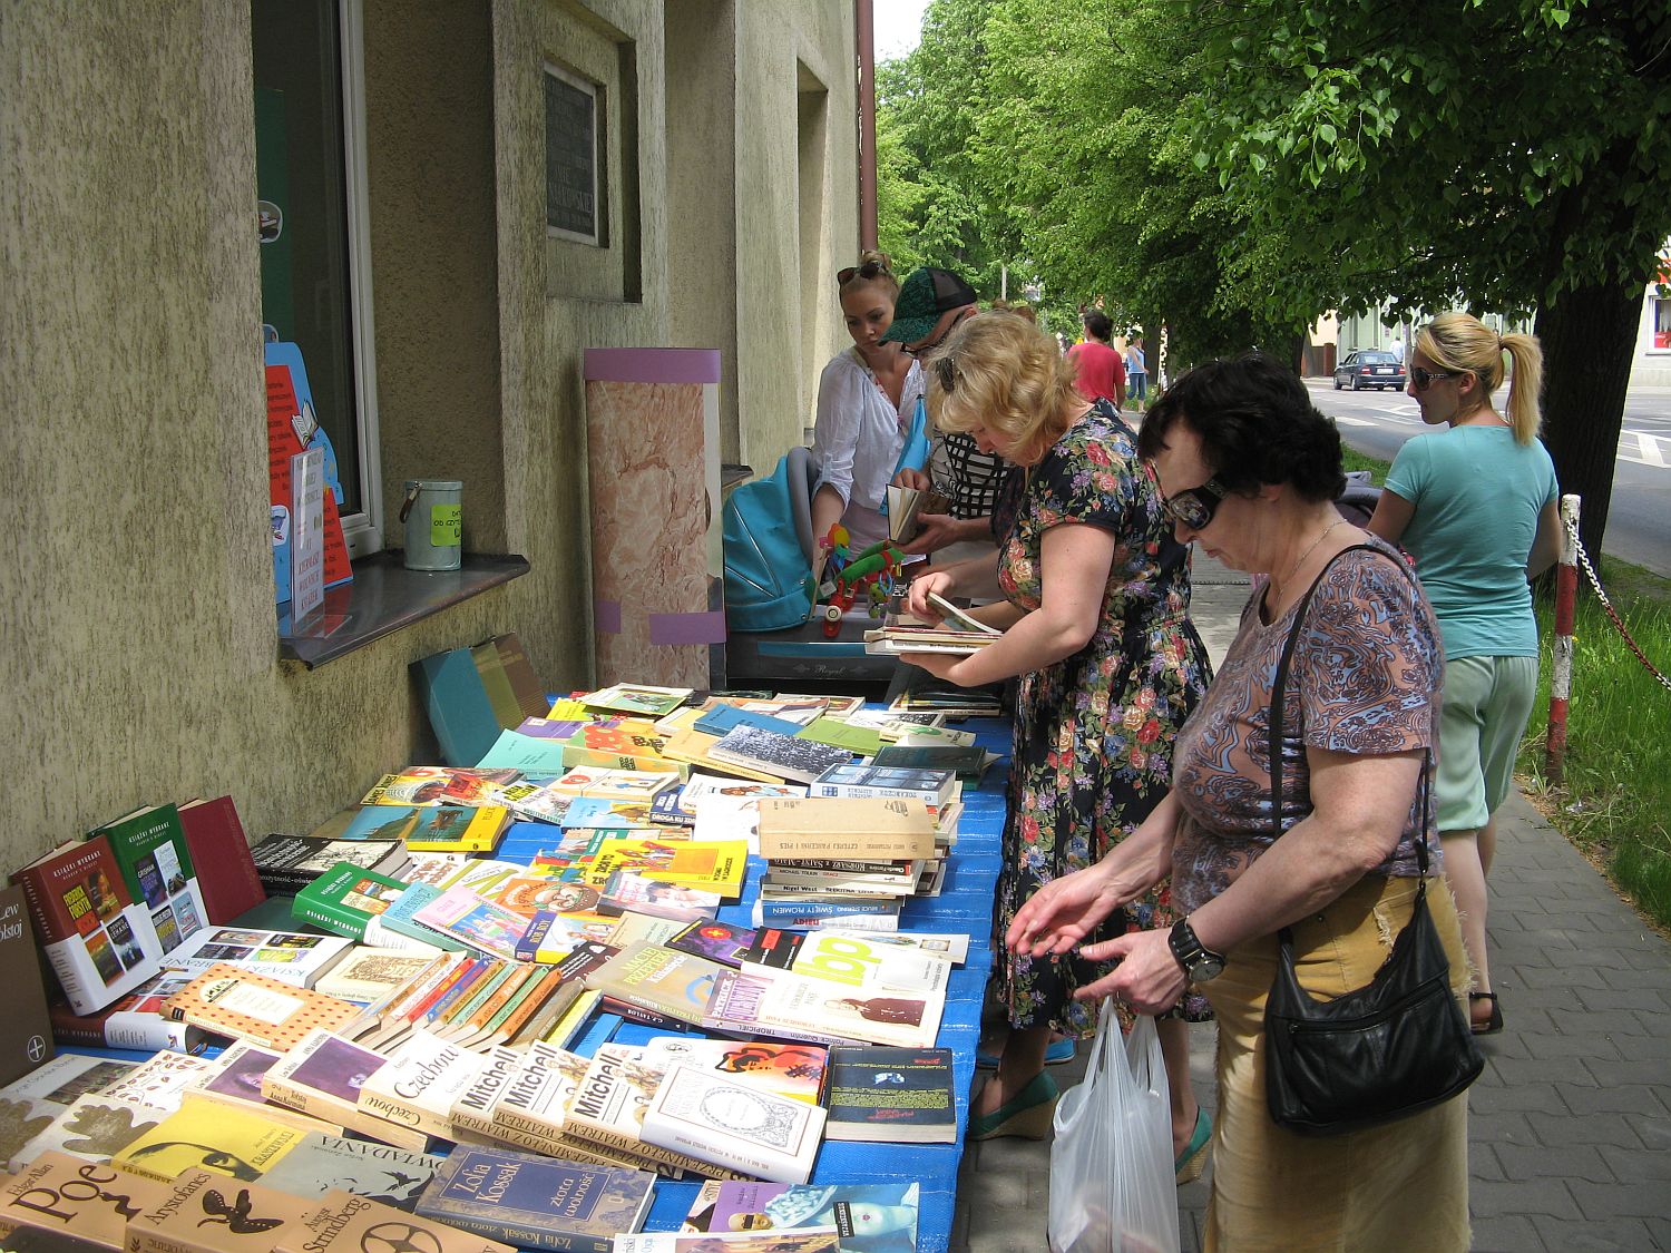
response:
<svg viewBox="0 0 1671 1253"><path fill-rule="evenodd" d="M1369 545L1354 545L1369 548ZM1333 565L1333 561L1330 561ZM1327 573L1327 566L1323 568ZM1270 698L1272 825L1282 835L1282 720L1288 663L1317 576L1293 618ZM1422 879L1415 907L1375 977L1333 1001L1318 1001L1293 971L1293 932L1277 932L1278 966L1265 1004L1265 1101L1277 1126L1337 1136L1392 1123L1464 1091L1486 1066L1462 1006L1450 992L1450 962L1427 911L1429 753L1422 755Z"/></svg>

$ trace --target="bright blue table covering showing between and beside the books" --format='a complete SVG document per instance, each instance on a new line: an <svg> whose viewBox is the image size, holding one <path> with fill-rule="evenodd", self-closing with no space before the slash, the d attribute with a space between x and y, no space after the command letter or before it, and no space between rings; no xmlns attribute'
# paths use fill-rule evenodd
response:
<svg viewBox="0 0 1671 1253"><path fill-rule="evenodd" d="M969 1084L974 1081L974 1051L981 1036L981 1007L986 981L993 971L993 904L999 837L1004 829L1004 782L1009 775L1009 723L998 718L973 718L964 723L978 733L983 748L1003 755L988 767L981 787L964 785L957 844L952 849L946 884L937 897L906 902L902 931L949 931L969 936L969 959L952 971L946 987L946 1011L936 1044L952 1051L952 1096L957 1108L957 1139L951 1144L889 1144L825 1139L819 1148L810 1183L916 1183L917 1253L944 1253L951 1243L952 1203L957 1193L957 1168L962 1161L962 1138L969 1123ZM551 827L540 822L515 824L500 845L505 860L531 860L551 844ZM724 922L752 926L750 912L759 892L765 862L749 859L749 877L740 900L720 909ZM571 1044L575 1053L592 1054L598 1044L618 1041L642 1044L658 1032L655 1027L627 1022L617 1014L597 1014ZM677 1231L695 1201L700 1181L658 1179L655 1203L645 1231Z"/></svg>

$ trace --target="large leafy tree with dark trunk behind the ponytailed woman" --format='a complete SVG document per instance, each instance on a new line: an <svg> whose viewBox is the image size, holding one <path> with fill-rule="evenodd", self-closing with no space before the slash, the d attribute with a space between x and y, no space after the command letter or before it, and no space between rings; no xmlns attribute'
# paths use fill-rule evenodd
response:
<svg viewBox="0 0 1671 1253"><path fill-rule="evenodd" d="M1340 306L1537 314L1544 439L1601 551L1643 292L1671 234L1664 0L1191 5L1203 172ZM1277 259L1280 264L1280 257Z"/></svg>

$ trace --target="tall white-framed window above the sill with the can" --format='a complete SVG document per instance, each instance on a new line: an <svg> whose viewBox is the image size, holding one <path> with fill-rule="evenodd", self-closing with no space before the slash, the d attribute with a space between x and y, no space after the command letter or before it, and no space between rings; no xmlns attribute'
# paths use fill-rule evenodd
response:
<svg viewBox="0 0 1671 1253"><path fill-rule="evenodd" d="M383 546L363 0L251 0L261 317L301 349L351 556Z"/></svg>

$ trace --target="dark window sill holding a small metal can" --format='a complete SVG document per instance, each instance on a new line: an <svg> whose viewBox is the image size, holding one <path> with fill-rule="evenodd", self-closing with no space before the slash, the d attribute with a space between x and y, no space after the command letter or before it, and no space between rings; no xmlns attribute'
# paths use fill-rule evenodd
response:
<svg viewBox="0 0 1671 1253"><path fill-rule="evenodd" d="M461 570L441 571L408 570L399 553L374 553L354 561L354 580L326 591L301 628L289 605L279 606L279 657L316 670L526 573L528 558L515 553L466 553Z"/></svg>

